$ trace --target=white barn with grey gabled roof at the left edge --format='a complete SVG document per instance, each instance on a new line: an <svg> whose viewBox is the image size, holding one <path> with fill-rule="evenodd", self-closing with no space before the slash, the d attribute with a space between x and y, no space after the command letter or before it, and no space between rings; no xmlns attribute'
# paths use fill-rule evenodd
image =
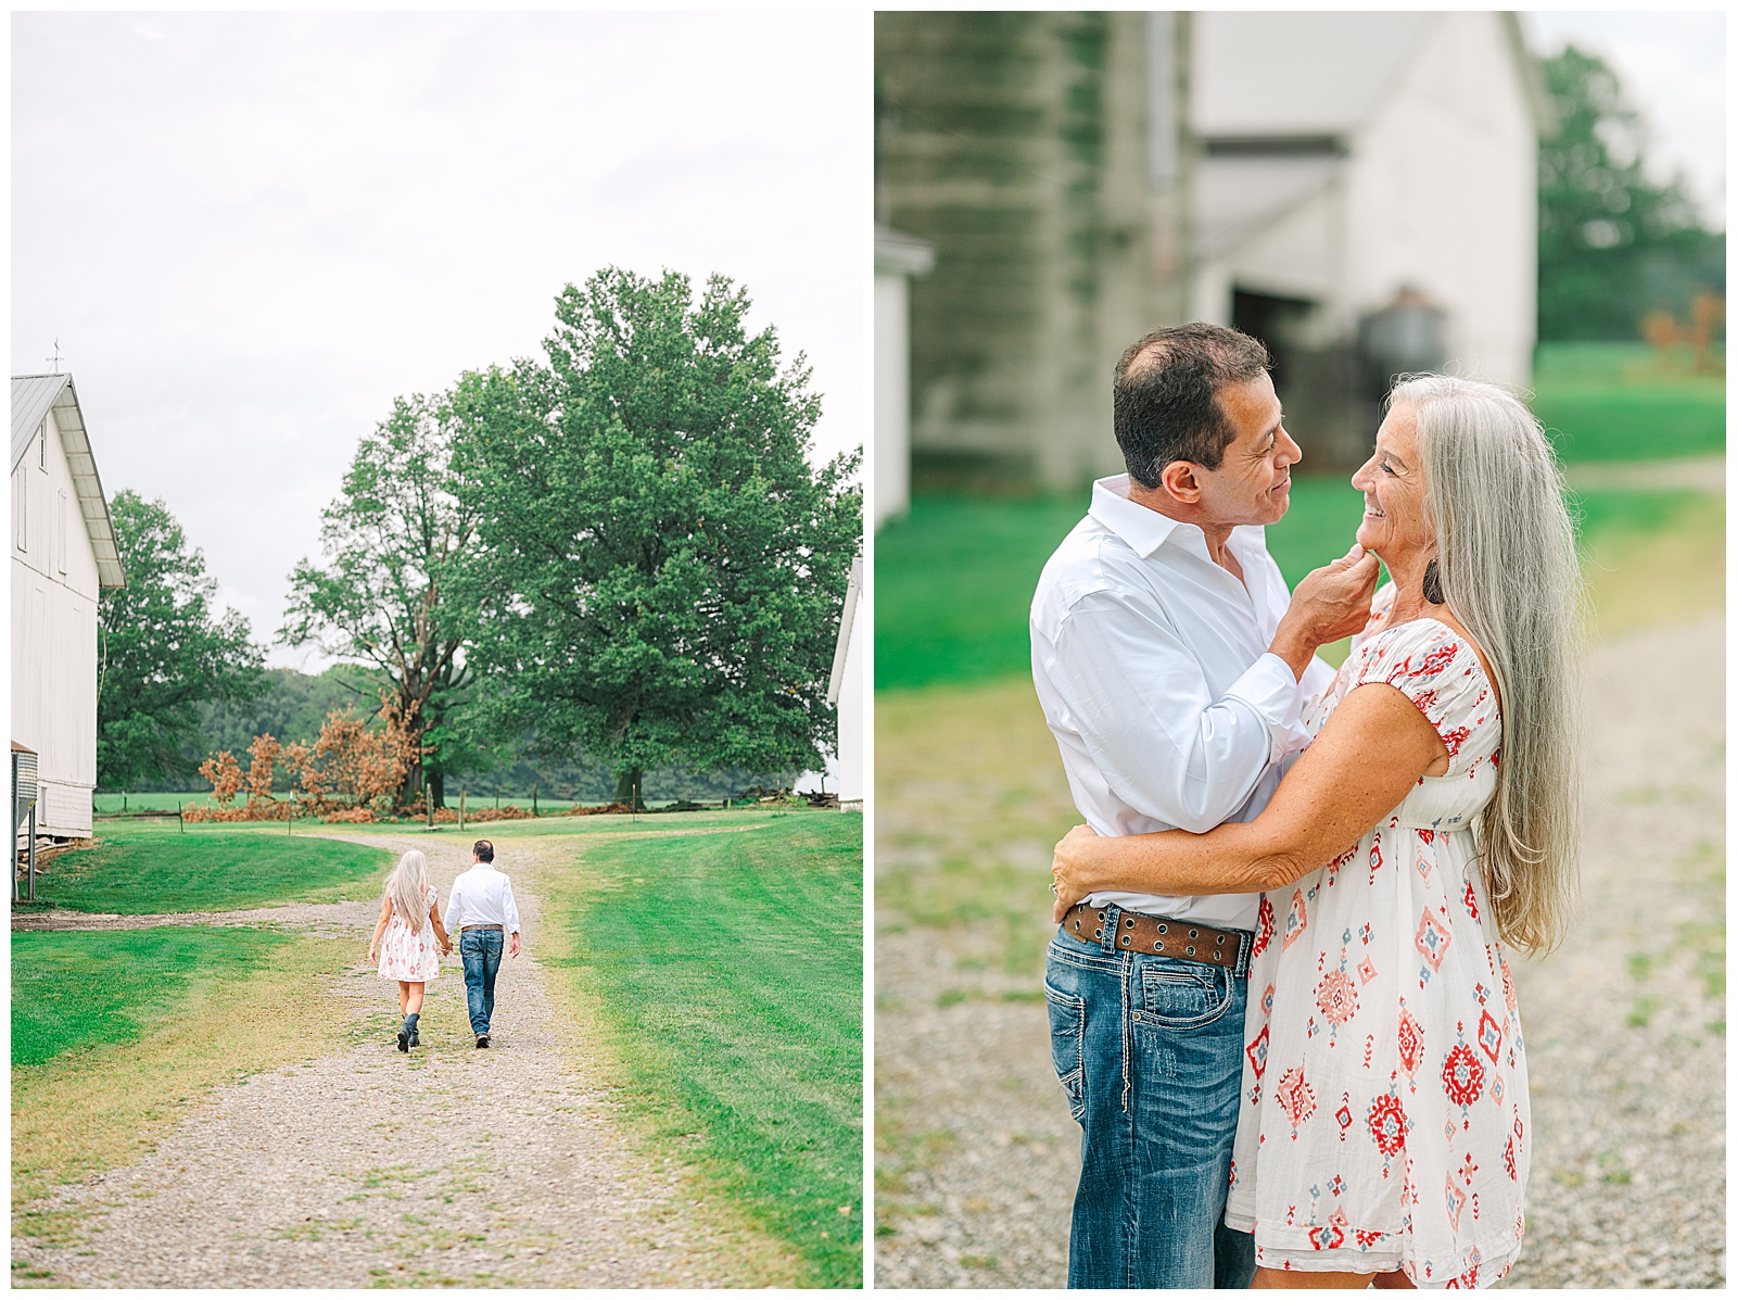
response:
<svg viewBox="0 0 1737 1300"><path fill-rule="evenodd" d="M14 375L12 744L36 754L38 834L90 834L97 591L123 586L73 377Z"/></svg>

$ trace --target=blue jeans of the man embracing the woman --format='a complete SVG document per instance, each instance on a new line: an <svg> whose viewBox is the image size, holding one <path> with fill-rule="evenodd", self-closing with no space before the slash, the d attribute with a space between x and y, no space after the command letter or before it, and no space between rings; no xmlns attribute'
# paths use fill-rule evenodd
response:
<svg viewBox="0 0 1737 1300"><path fill-rule="evenodd" d="M1120 909L1112 907L1108 935ZM1044 999L1080 1135L1068 1286L1245 1288L1254 1237L1225 1227L1242 1088L1247 952L1209 966L1058 932Z"/></svg>

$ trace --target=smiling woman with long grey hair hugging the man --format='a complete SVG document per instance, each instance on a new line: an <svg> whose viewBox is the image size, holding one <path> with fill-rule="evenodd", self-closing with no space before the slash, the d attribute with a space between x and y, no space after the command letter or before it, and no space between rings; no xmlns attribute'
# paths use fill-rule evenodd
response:
<svg viewBox="0 0 1737 1300"><path fill-rule="evenodd" d="M1464 379L1398 384L1351 483L1393 580L1315 742L1252 822L1077 827L1056 914L1265 890L1225 1213L1254 1284L1489 1284L1532 1147L1503 947L1555 947L1575 892L1572 525L1537 421Z"/></svg>

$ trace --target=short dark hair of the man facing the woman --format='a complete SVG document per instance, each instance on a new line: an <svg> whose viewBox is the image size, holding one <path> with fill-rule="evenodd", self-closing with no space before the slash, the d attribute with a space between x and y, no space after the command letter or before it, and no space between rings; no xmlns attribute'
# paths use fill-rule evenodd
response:
<svg viewBox="0 0 1737 1300"><path fill-rule="evenodd" d="M1218 405L1228 384L1271 368L1259 339L1193 322L1153 330L1115 365L1115 441L1127 474L1157 487L1171 461L1218 469L1237 431Z"/></svg>

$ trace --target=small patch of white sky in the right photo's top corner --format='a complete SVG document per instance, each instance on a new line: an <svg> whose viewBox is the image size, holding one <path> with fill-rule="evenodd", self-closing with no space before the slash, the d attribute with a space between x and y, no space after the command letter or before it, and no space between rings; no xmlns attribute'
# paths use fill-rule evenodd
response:
<svg viewBox="0 0 1737 1300"><path fill-rule="evenodd" d="M1702 217L1725 228L1725 14L1530 12L1534 47L1574 43L1615 68L1650 129L1655 179L1688 174Z"/></svg>

